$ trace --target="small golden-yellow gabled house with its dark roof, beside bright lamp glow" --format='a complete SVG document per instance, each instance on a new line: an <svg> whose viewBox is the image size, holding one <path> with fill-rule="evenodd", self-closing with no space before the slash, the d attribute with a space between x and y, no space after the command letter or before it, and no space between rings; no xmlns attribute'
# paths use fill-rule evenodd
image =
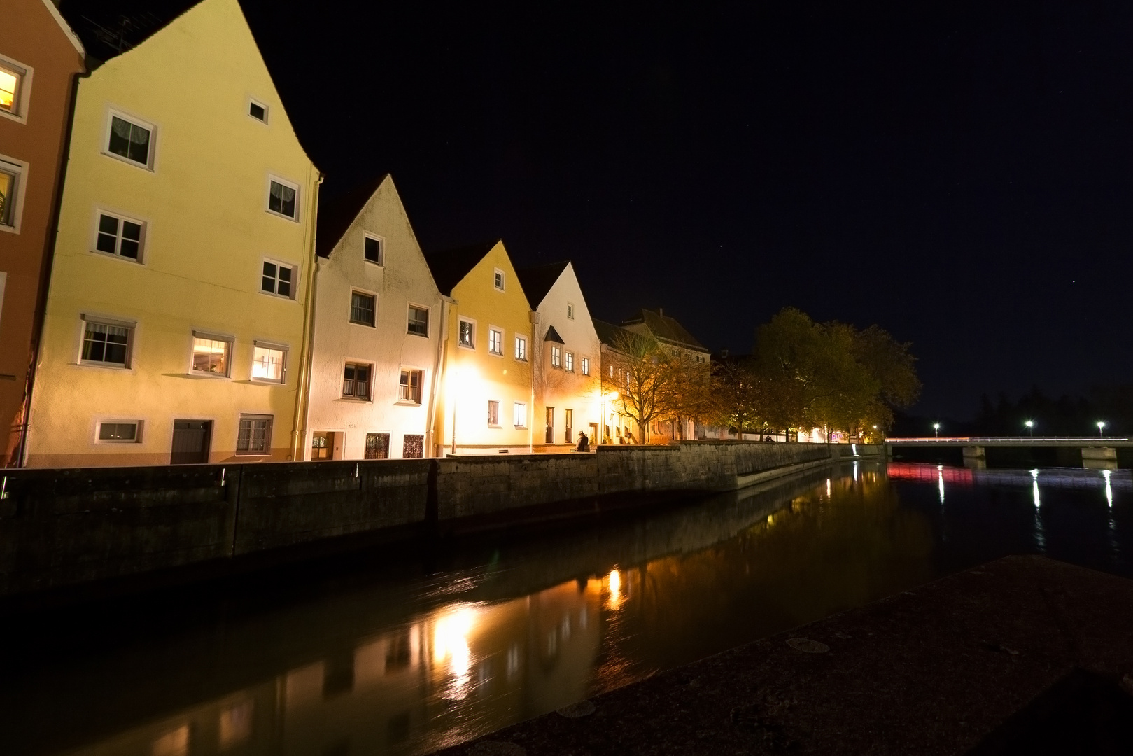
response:
<svg viewBox="0 0 1133 756"><path fill-rule="evenodd" d="M534 317L503 241L425 260L449 298L436 456L530 451Z"/></svg>

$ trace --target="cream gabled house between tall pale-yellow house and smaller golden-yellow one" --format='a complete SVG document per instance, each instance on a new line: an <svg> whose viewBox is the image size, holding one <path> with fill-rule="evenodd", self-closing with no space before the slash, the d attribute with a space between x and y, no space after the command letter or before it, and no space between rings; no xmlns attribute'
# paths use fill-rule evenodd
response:
<svg viewBox="0 0 1133 756"><path fill-rule="evenodd" d="M306 459L432 456L442 300L389 176L318 212Z"/></svg>

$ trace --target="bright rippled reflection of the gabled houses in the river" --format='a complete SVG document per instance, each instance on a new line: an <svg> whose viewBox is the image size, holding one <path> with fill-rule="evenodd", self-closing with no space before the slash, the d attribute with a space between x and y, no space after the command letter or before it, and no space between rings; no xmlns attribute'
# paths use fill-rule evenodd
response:
<svg viewBox="0 0 1133 756"><path fill-rule="evenodd" d="M450 604L76 756L423 753L585 698L603 580Z"/></svg>

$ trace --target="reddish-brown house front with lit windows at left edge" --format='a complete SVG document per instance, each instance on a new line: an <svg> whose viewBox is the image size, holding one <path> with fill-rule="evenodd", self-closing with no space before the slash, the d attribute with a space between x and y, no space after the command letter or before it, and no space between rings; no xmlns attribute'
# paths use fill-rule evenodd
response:
<svg viewBox="0 0 1133 756"><path fill-rule="evenodd" d="M51 0L0 10L0 428L5 464L23 457L78 37Z"/></svg>

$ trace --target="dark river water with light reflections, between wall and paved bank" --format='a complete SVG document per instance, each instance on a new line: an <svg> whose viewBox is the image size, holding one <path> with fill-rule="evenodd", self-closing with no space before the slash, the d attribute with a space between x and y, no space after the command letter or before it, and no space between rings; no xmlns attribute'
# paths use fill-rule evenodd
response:
<svg viewBox="0 0 1133 756"><path fill-rule="evenodd" d="M1131 550L1128 470L846 465L8 618L0 750L424 754L990 559Z"/></svg>

